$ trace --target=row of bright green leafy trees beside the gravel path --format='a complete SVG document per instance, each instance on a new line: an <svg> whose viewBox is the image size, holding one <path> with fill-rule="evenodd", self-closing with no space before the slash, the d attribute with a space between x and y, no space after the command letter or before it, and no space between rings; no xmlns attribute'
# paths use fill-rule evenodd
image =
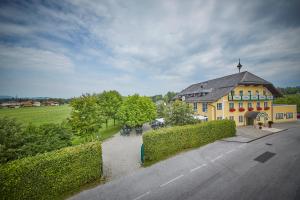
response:
<svg viewBox="0 0 300 200"><path fill-rule="evenodd" d="M117 91L100 94L86 94L71 101L69 123L74 133L90 135L97 132L102 124L112 119L129 127L139 127L156 117L155 104L148 97L139 95L124 99Z"/></svg>

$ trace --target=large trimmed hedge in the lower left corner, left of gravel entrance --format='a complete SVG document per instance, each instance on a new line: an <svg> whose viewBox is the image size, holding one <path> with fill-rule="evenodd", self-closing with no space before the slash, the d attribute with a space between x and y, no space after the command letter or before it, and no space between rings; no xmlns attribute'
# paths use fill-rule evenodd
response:
<svg viewBox="0 0 300 200"><path fill-rule="evenodd" d="M0 165L1 199L60 199L102 175L100 142Z"/></svg>

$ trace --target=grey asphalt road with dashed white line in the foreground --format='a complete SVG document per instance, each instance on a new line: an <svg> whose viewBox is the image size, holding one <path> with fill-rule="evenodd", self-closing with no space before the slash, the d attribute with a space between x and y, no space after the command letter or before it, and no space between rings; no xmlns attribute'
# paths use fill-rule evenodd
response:
<svg viewBox="0 0 300 200"><path fill-rule="evenodd" d="M299 130L248 144L218 141L72 199L300 199ZM254 160L265 152L274 154Z"/></svg>

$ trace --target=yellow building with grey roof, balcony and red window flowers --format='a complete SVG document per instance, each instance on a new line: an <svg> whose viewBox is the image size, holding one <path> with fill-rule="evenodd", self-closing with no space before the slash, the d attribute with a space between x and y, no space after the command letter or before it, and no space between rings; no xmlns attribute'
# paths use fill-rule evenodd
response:
<svg viewBox="0 0 300 200"><path fill-rule="evenodd" d="M273 104L280 96L272 83L245 71L193 84L175 98L191 104L196 115L209 121L231 119L244 126L297 120L295 105Z"/></svg>

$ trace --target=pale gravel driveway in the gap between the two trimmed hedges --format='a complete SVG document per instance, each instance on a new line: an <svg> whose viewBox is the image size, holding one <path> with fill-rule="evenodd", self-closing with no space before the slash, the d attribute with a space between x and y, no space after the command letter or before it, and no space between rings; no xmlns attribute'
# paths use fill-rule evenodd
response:
<svg viewBox="0 0 300 200"><path fill-rule="evenodd" d="M143 129L148 130L149 125L144 125ZM107 180L118 179L141 167L142 143L142 135L137 135L134 131L130 136L117 133L102 143L103 174Z"/></svg>

